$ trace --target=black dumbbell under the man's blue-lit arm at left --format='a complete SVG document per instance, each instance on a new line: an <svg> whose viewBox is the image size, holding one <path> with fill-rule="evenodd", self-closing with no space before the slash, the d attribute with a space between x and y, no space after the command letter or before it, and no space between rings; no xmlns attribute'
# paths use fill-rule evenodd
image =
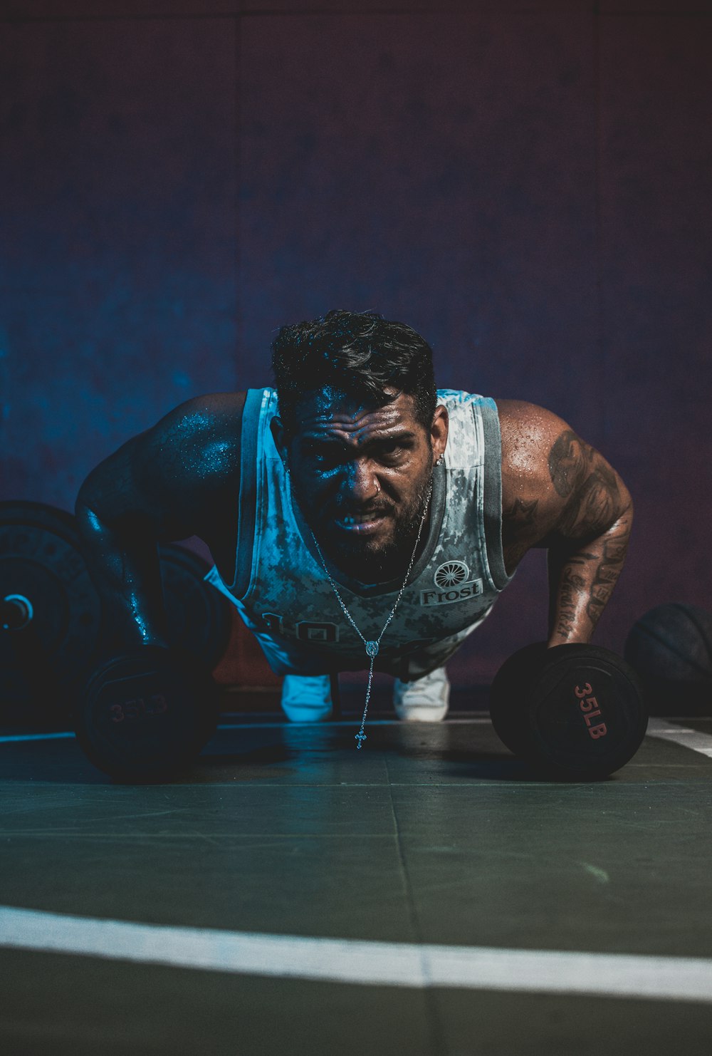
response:
<svg viewBox="0 0 712 1056"><path fill-rule="evenodd" d="M189 655L158 646L135 648L97 667L75 712L86 756L122 781L178 776L216 724L210 674Z"/></svg>

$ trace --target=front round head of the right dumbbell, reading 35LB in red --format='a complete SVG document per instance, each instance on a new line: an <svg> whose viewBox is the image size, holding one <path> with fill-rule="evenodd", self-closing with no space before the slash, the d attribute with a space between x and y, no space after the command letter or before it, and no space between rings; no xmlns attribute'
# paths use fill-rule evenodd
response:
<svg viewBox="0 0 712 1056"><path fill-rule="evenodd" d="M527 715L530 757L577 779L604 777L622 767L640 747L648 725L633 670L594 645L547 650Z"/></svg>

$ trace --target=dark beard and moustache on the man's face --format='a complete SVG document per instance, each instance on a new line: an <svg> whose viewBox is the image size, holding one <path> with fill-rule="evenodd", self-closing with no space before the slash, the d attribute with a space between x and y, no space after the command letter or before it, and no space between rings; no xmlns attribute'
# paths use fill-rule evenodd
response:
<svg viewBox="0 0 712 1056"><path fill-rule="evenodd" d="M385 502L374 503L367 510L361 511L390 517L392 529L385 540L368 535L363 539L358 535L347 536L335 527L325 530L317 524L312 526L312 531L324 554L352 579L362 583L388 582L405 576L431 491L432 470L428 467L412 497L399 511ZM339 507L335 515L345 512L348 511Z"/></svg>

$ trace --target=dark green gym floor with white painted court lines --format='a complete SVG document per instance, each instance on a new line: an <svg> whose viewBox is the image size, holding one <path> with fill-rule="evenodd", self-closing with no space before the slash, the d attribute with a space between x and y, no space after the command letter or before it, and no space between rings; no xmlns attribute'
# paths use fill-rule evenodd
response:
<svg viewBox="0 0 712 1056"><path fill-rule="evenodd" d="M358 752L352 703L224 715L172 785L6 731L0 1049L708 1056L712 719L564 785L484 713Z"/></svg>

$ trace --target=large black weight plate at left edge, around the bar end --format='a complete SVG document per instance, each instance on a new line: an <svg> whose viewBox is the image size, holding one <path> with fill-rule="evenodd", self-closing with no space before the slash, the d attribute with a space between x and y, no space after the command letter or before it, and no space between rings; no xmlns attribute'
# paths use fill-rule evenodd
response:
<svg viewBox="0 0 712 1056"><path fill-rule="evenodd" d="M2 717L32 722L66 715L100 622L71 513L43 503L0 502L0 602L8 596L24 599L18 604L31 618L21 629L0 629Z"/></svg>

